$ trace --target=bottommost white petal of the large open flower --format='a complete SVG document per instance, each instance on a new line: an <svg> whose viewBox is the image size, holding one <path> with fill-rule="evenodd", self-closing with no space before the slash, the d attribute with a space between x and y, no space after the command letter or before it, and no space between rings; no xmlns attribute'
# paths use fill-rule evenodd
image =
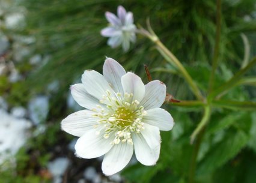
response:
<svg viewBox="0 0 256 183"><path fill-rule="evenodd" d="M105 175L113 175L122 170L130 161L133 154L133 145L119 143L114 145L105 155L102 162L102 171Z"/></svg>

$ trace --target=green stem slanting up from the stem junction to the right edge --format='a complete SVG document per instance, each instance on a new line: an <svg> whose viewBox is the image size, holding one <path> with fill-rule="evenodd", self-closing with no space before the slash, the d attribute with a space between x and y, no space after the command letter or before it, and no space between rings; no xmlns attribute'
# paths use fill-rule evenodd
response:
<svg viewBox="0 0 256 183"><path fill-rule="evenodd" d="M231 89L233 88L233 86L236 86L237 82L240 82L240 78L243 76L243 74L245 74L246 71L248 71L252 66L254 66L254 64L256 64L256 57L253 58L252 61L249 62L248 65L246 65L245 68L239 70L230 80L228 80L228 82L224 83L219 88L215 89L215 91L213 91L209 95L209 100L212 100L217 95L219 95L218 98L220 98L223 95L222 92L228 91L228 89Z"/></svg>

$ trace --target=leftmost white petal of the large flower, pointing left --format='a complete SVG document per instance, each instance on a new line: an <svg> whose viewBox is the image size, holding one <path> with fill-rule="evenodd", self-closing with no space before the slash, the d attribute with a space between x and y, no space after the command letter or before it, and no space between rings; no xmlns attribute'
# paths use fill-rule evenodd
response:
<svg viewBox="0 0 256 183"><path fill-rule="evenodd" d="M91 110L79 110L72 113L61 121L62 130L73 136L81 137L97 124L97 118L92 117L93 113Z"/></svg>

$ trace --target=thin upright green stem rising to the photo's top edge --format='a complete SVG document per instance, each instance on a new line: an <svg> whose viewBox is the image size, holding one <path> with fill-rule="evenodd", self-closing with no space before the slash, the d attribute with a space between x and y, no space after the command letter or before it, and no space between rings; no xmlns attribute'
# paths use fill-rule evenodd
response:
<svg viewBox="0 0 256 183"><path fill-rule="evenodd" d="M215 71L216 71L216 68L218 67L220 38L221 38L221 0L217 0L216 37L215 37L215 47L213 51L212 72L209 80L209 92L211 92L212 88L214 87Z"/></svg>

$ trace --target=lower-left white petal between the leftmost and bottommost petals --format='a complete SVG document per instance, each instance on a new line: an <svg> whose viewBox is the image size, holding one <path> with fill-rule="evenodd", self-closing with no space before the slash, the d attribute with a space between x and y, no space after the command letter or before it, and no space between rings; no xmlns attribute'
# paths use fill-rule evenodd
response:
<svg viewBox="0 0 256 183"><path fill-rule="evenodd" d="M99 128L89 130L78 139L75 149L79 157L87 159L100 157L112 148L111 142L114 140L114 136L104 139L104 130L102 130L100 134L96 134L97 130L99 130Z"/></svg>

